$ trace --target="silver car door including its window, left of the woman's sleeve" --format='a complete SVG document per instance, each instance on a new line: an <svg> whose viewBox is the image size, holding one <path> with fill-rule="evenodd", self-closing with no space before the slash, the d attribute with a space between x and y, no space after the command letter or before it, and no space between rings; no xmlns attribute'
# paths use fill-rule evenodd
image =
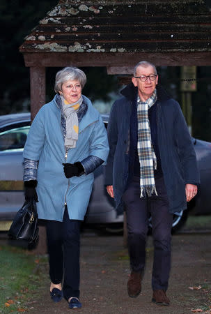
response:
<svg viewBox="0 0 211 314"><path fill-rule="evenodd" d="M0 130L0 218L13 219L24 203L23 149L30 126Z"/></svg>

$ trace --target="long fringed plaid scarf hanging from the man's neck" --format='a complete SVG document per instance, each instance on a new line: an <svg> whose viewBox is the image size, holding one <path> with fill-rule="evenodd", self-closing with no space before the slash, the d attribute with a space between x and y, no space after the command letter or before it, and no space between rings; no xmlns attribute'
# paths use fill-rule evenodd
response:
<svg viewBox="0 0 211 314"><path fill-rule="evenodd" d="M150 122L148 119L148 109L154 105L157 100L156 89L146 102L142 102L138 96L137 99L137 118L138 118L138 155L140 163L140 197L157 195L155 188L154 169L157 167L157 159L150 133Z"/></svg>

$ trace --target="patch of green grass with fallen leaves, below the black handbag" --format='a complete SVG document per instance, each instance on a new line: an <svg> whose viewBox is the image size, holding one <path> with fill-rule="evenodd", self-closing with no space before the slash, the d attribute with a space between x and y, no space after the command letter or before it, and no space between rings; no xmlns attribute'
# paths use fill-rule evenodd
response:
<svg viewBox="0 0 211 314"><path fill-rule="evenodd" d="M39 285L39 263L23 248L0 246L0 313L27 311L24 304Z"/></svg>

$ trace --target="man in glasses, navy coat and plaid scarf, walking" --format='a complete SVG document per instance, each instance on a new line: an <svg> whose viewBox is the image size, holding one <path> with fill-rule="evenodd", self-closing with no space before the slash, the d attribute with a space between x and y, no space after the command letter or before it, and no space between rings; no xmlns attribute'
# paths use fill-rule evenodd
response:
<svg viewBox="0 0 211 314"><path fill-rule="evenodd" d="M147 61L134 68L132 82L121 92L108 125L107 192L120 214L127 215L132 272L130 297L141 292L146 260L148 216L152 217L153 299L169 306L166 296L171 268L173 213L187 208L197 193L196 155L180 105L157 85L155 66Z"/></svg>

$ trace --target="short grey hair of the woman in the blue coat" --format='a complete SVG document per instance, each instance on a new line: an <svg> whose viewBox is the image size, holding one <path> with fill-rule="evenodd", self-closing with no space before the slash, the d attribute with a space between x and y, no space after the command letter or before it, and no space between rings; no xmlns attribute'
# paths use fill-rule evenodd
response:
<svg viewBox="0 0 211 314"><path fill-rule="evenodd" d="M79 68L67 66L56 73L56 80L54 85L54 91L58 93L61 91L62 84L68 80L75 81L79 80L81 87L83 88L86 84L86 74Z"/></svg>

